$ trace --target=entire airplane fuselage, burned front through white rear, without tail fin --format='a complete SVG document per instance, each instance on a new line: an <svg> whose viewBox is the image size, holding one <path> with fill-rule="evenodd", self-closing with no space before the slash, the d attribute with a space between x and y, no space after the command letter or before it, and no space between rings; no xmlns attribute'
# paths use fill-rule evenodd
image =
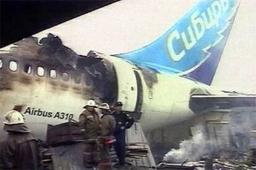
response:
<svg viewBox="0 0 256 170"><path fill-rule="evenodd" d="M20 106L28 126L41 139L47 124L77 120L91 98L110 105L120 100L123 110L142 113L144 131L168 126L194 116L190 91L208 87L118 56L75 54L53 34L40 42L30 37L14 45L0 55L1 114Z"/></svg>

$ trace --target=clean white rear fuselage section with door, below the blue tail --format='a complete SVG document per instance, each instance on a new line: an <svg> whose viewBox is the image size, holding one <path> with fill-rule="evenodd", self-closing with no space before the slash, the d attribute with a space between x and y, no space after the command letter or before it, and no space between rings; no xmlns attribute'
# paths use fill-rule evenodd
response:
<svg viewBox="0 0 256 170"><path fill-rule="evenodd" d="M151 131L191 118L195 114L189 109L190 90L194 87L209 87L174 74L139 69L132 63L116 57L107 59L111 60L116 68L118 100L124 103L123 109L136 111L136 103L142 103L140 123L143 131ZM134 71L139 75L141 83ZM139 98L142 99L138 101Z"/></svg>

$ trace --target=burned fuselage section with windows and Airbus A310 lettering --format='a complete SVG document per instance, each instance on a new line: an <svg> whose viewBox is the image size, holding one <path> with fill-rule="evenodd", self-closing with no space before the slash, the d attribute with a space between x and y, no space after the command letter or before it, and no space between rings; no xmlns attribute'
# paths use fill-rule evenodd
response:
<svg viewBox="0 0 256 170"><path fill-rule="evenodd" d="M20 106L28 126L43 132L46 124L77 119L88 99L110 104L117 100L111 63L93 52L77 55L51 34L43 44L37 41L26 38L1 52L1 115Z"/></svg>

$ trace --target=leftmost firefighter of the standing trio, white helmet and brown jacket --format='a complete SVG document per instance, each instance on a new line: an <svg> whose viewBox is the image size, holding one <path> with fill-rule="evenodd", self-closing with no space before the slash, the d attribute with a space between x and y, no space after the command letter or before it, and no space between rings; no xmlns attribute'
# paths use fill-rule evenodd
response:
<svg viewBox="0 0 256 170"><path fill-rule="evenodd" d="M99 160L100 118L95 111L97 107L95 100L90 99L79 116L80 131L85 139L84 161L87 168L97 166Z"/></svg>

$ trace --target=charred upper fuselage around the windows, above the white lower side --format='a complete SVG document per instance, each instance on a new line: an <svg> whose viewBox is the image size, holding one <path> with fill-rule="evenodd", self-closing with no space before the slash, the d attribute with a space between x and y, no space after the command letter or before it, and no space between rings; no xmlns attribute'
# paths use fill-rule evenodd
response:
<svg viewBox="0 0 256 170"><path fill-rule="evenodd" d="M24 88L39 88L51 92L50 95L70 91L82 99L93 98L109 104L117 99L114 66L96 52L76 54L53 34L41 39L40 44L35 37L14 44L15 47L1 54L0 91L15 91L14 84L19 82ZM17 63L17 68L15 63L8 68L11 60Z"/></svg>

